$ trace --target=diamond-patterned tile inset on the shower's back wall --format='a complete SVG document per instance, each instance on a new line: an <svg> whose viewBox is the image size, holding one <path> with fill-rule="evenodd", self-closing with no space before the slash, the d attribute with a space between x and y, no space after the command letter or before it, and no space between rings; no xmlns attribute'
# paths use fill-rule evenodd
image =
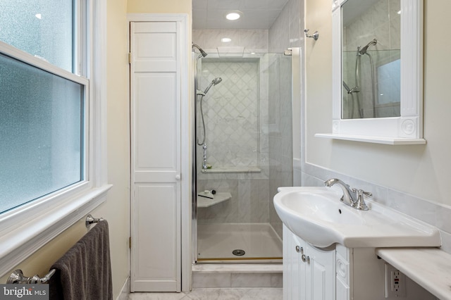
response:
<svg viewBox="0 0 451 300"><path fill-rule="evenodd" d="M215 77L222 77L223 81L211 87L202 105L208 162L213 168L258 167L259 61L202 61L199 87L204 90ZM202 134L201 123L198 122L197 132Z"/></svg>

